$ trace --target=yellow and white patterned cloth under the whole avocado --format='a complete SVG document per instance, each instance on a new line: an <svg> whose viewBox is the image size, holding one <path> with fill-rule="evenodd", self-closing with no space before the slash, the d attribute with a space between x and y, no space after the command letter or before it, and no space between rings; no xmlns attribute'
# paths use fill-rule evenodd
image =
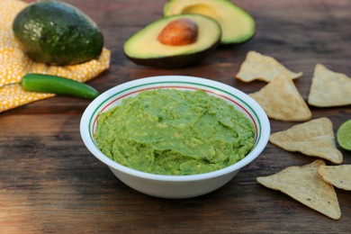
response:
<svg viewBox="0 0 351 234"><path fill-rule="evenodd" d="M74 66L58 67L33 62L19 48L12 31L14 17L26 5L21 0L0 0L0 112L54 95L26 92L21 85L6 85L21 82L27 73L64 76L85 82L110 66L111 52L105 48L100 58Z"/></svg>

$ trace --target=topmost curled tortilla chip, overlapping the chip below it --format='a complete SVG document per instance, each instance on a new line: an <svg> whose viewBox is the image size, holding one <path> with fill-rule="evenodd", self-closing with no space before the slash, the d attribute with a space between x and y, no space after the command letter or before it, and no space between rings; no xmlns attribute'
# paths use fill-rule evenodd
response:
<svg viewBox="0 0 351 234"><path fill-rule="evenodd" d="M255 79L270 82L280 75L294 79L302 76L302 72L294 73L273 57L262 55L256 51L249 51L236 77L244 82Z"/></svg>

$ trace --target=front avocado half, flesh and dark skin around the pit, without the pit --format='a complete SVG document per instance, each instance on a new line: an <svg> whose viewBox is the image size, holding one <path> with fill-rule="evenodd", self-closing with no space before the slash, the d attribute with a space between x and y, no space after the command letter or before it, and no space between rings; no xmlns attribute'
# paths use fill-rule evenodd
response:
<svg viewBox="0 0 351 234"><path fill-rule="evenodd" d="M190 19L198 26L197 40L188 45L166 45L157 40L169 23ZM137 31L124 43L127 58L136 64L158 68L190 67L206 58L220 44L220 24L200 14L182 14L161 18Z"/></svg>

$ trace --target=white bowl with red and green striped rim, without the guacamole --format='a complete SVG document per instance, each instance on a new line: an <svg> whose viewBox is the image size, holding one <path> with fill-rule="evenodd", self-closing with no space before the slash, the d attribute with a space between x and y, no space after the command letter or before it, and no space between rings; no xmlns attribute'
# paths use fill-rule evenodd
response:
<svg viewBox="0 0 351 234"><path fill-rule="evenodd" d="M139 94L140 91L155 88L181 90L202 89L232 104L256 127L255 145L246 157L237 163L217 171L199 175L155 175L131 169L103 155L96 146L94 130L99 112L105 112L121 103L123 98ZM219 82L193 76L153 76L117 85L100 94L88 105L80 122L80 133L86 148L109 166L112 173L124 184L152 196L162 198L189 198L210 193L227 184L239 169L252 162L266 147L270 125L266 112L247 94Z"/></svg>

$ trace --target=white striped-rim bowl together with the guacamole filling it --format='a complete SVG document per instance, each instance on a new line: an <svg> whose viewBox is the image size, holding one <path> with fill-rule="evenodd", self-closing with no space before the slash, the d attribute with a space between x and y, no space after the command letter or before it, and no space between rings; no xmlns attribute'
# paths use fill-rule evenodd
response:
<svg viewBox="0 0 351 234"><path fill-rule="evenodd" d="M188 198L227 184L266 147L266 113L247 94L193 76L133 80L83 113L85 146L141 193Z"/></svg>

